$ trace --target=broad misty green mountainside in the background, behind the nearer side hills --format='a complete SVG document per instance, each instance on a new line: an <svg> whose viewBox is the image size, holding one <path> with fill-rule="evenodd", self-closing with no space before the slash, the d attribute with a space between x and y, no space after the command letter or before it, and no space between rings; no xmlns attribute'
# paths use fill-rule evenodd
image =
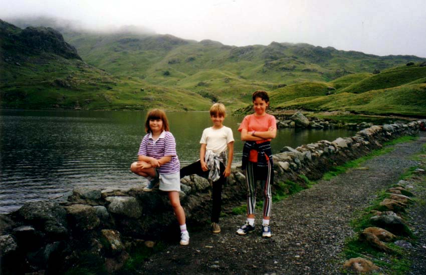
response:
<svg viewBox="0 0 426 275"><path fill-rule="evenodd" d="M171 35L68 32L65 37L85 60L112 74L131 75L148 83L182 88L215 98L230 108L247 105L250 94L257 89L270 91L280 84L300 83L292 87L296 89L292 95L276 97L278 101L326 94L325 89L318 94L317 88L312 89L315 84L308 82L325 82L350 72L360 72L328 84L339 90L371 75L362 71L416 59L412 56L380 57L308 44L273 42L268 46L235 47ZM288 89L277 90L277 93L282 91L286 93Z"/></svg>

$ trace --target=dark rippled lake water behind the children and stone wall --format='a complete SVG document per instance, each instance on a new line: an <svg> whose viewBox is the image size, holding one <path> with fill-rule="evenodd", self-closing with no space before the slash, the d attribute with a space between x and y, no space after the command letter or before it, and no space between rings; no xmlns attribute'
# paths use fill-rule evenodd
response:
<svg viewBox="0 0 426 275"><path fill-rule="evenodd" d="M145 111L0 110L0 213L27 201L60 196L78 185L126 187L144 181L129 170L145 134ZM168 112L181 165L198 159L199 139L211 125L208 112ZM234 163L243 142L237 131L243 116L229 115ZM346 129L280 129L274 152L322 139L351 136Z"/></svg>

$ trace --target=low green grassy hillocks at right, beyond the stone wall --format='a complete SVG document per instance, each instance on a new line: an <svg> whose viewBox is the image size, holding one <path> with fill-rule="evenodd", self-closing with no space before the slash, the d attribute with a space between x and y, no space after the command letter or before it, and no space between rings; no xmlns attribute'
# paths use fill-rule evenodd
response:
<svg viewBox="0 0 426 275"><path fill-rule="evenodd" d="M279 102L274 104L279 109L426 116L425 76L426 66L398 66L374 75L347 75L329 83L304 83L301 87L290 85L273 91L271 100ZM328 84L338 88L335 94L324 95ZM355 93L361 87L364 91Z"/></svg>

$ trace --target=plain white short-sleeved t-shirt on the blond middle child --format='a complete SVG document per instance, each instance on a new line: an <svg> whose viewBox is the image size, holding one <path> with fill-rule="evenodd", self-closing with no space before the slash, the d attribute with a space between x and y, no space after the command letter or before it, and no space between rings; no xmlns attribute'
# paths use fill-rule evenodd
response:
<svg viewBox="0 0 426 275"><path fill-rule="evenodd" d="M223 126L220 129L214 129L213 127L205 128L202 131L199 143L206 144L206 150L212 150L214 153L219 154L226 151L228 143L231 141L234 141L232 129Z"/></svg>

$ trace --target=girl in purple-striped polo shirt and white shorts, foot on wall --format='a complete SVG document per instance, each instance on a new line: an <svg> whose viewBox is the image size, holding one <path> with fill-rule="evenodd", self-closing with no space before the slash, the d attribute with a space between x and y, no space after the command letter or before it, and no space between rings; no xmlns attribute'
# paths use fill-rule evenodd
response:
<svg viewBox="0 0 426 275"><path fill-rule="evenodd" d="M138 161L130 165L135 174L148 179L144 191L151 191L159 183L159 189L168 192L171 206L180 224L180 244L189 243L186 230L185 212L179 201L180 163L176 154L176 142L169 132L165 112L160 109L150 110L146 116L145 131L139 146Z"/></svg>

